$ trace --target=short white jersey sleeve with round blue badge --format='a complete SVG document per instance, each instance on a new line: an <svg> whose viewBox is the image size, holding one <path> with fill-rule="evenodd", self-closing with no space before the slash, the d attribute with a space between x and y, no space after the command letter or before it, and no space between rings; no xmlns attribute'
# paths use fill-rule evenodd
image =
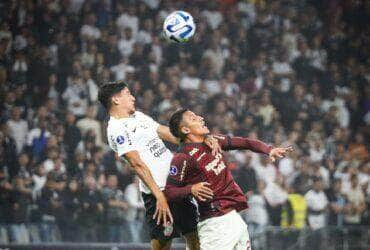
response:
<svg viewBox="0 0 370 250"><path fill-rule="evenodd" d="M130 151L137 150L132 140L132 134L126 129L112 131L109 136L109 145L120 157Z"/></svg>

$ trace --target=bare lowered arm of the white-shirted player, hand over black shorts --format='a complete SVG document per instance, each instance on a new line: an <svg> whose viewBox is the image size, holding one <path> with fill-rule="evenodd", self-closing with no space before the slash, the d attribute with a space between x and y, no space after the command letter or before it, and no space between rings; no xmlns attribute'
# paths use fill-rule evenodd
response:
<svg viewBox="0 0 370 250"><path fill-rule="evenodd" d="M157 224L160 224L163 220L163 225L167 225L167 217L171 222L173 222L172 214L166 197L155 183L148 166L141 160L138 152L130 151L124 154L124 156L135 170L139 178L145 183L145 185L150 189L152 194L157 199L157 207L153 219L157 218Z"/></svg>

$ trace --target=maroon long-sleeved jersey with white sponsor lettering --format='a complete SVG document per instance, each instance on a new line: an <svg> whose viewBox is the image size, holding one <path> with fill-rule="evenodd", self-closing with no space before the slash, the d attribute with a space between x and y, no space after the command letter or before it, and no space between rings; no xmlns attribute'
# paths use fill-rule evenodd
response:
<svg viewBox="0 0 370 250"><path fill-rule="evenodd" d="M270 146L258 140L229 136L217 136L217 139L223 150L250 149L265 154L271 150ZM208 182L214 193L211 200L198 200L200 220L248 208L223 154L212 155L204 143L183 144L172 159L165 194L171 201L183 198L190 195L191 186L199 182Z"/></svg>

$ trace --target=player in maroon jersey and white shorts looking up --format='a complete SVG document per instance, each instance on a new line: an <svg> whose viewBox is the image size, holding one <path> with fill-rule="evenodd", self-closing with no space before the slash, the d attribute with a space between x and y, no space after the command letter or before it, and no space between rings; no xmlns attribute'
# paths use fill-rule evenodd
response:
<svg viewBox="0 0 370 250"><path fill-rule="evenodd" d="M200 189L195 197L200 213L201 249L250 249L247 225L237 213L248 208L246 197L235 183L223 154L212 155L203 143L209 133L203 118L190 110L179 110L170 119L170 130L183 145L172 159L165 188L167 198L176 201L190 196L196 185L208 187ZM223 150L249 149L269 155L273 161L292 150L243 137L216 138Z"/></svg>

